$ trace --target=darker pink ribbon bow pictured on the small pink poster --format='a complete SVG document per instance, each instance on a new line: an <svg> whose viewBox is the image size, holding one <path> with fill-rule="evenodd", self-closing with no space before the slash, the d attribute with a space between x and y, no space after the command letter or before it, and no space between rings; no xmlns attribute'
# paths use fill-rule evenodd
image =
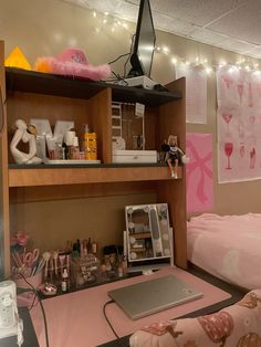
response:
<svg viewBox="0 0 261 347"><path fill-rule="evenodd" d="M205 189L205 176L207 175L209 178L212 178L212 171L207 167L206 164L212 159L212 154L211 154L211 151L209 151L203 158L200 158L196 147L194 146L194 144L190 140L187 140L186 147L187 147L187 151L189 149L192 158L195 159L195 161L192 161L192 162L190 161L187 165L187 178L189 180L190 175L196 169L200 170L200 178L199 178L199 182L198 182L198 187L197 187L197 198L201 203L205 203L208 200L208 198L203 191L203 189Z"/></svg>

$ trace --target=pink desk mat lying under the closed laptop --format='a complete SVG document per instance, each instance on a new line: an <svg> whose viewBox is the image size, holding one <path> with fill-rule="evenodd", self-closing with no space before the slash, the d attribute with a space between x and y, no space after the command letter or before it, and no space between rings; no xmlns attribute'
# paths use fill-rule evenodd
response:
<svg viewBox="0 0 261 347"><path fill-rule="evenodd" d="M229 293L215 287L184 270L175 267L166 267L152 275L140 275L52 297L43 301L50 346L93 347L114 340L115 336L103 315L104 303L109 301L107 292L166 274L174 274L180 280L190 283L203 293L203 297L137 320L128 318L116 304L109 304L106 306L106 314L112 326L121 337L132 334L147 324L176 318L231 297ZM44 324L40 305L31 311L31 318L40 347L45 347Z"/></svg>

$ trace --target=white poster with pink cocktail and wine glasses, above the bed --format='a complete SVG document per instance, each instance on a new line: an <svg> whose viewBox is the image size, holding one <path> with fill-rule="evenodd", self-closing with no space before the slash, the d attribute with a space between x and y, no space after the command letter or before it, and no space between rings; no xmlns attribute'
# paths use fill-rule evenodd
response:
<svg viewBox="0 0 261 347"><path fill-rule="evenodd" d="M261 73L217 71L218 181L261 178Z"/></svg>

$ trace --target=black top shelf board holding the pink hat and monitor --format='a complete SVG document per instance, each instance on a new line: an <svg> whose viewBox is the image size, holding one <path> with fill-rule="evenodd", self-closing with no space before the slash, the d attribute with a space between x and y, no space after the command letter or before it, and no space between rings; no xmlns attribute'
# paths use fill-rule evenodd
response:
<svg viewBox="0 0 261 347"><path fill-rule="evenodd" d="M6 67L6 80L8 93L25 92L87 99L105 88L112 88L114 102L142 103L147 106L159 106L181 98L179 93L64 77L14 67Z"/></svg>

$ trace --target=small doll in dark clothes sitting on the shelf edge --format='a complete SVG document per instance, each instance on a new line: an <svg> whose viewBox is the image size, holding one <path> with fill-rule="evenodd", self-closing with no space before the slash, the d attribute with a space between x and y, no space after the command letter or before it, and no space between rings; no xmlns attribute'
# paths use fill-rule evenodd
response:
<svg viewBox="0 0 261 347"><path fill-rule="evenodd" d="M166 161L170 169L173 178L178 178L178 164L187 164L189 158L178 147L178 137L176 135L169 135L168 141L161 146L163 151L167 153Z"/></svg>

